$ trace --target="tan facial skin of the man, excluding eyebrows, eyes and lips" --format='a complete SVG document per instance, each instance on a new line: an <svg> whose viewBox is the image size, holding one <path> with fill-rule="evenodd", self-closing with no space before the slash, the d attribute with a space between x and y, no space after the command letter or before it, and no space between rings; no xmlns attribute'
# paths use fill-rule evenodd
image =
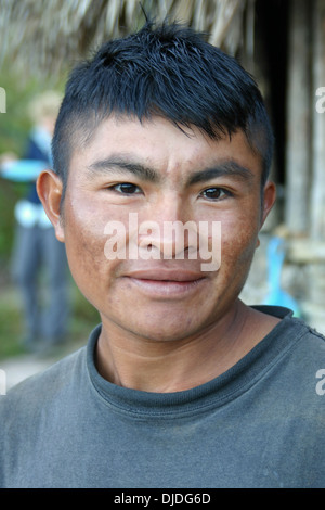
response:
<svg viewBox="0 0 325 510"><path fill-rule="evenodd" d="M92 173L87 167L116 151L154 168L159 183L144 182L136 176ZM209 182L185 187L191 173L218 164L237 162L252 174L249 181L220 177ZM49 175L48 175L49 176ZM51 177L53 179L53 176ZM40 195L49 177L39 181ZM141 192L130 196L108 190L119 182L131 182ZM57 181L57 196L60 182ZM53 186L54 184L50 184ZM220 187L232 195L210 201L203 190ZM50 195L52 196L52 195ZM211 141L196 128L184 135L171 123L154 118L142 124L134 119L110 117L104 120L91 142L73 154L65 202L64 222L44 206L57 238L65 242L74 279L86 297L100 311L103 336L136 337L155 342L179 342L216 336L224 318L231 322L237 309L237 296L247 278L258 243L258 233L275 197L274 186L266 183L261 207L261 162L250 150L245 135L235 133L231 141ZM58 201L58 200L57 200ZM55 207L53 207L55 208ZM50 211L49 211L50 209ZM195 291L174 298L152 297L130 281L128 275L151 267L147 260L107 260L104 246L107 221L128 225L130 213L138 213L139 224L154 220L221 221L221 266L205 272L204 283ZM199 272L200 260L161 260L167 268L186 268Z"/></svg>

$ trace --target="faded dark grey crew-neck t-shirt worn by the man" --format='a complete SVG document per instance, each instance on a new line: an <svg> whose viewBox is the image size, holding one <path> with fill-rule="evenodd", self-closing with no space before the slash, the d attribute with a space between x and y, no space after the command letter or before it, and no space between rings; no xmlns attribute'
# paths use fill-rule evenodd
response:
<svg viewBox="0 0 325 510"><path fill-rule="evenodd" d="M263 311L284 318L234 367L167 394L104 380L98 327L0 397L0 486L325 487L325 339Z"/></svg>

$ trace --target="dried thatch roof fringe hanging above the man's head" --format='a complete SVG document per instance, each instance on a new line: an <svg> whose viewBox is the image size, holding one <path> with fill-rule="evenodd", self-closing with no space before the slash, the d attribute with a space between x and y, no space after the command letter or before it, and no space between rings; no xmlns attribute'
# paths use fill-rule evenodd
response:
<svg viewBox="0 0 325 510"><path fill-rule="evenodd" d="M6 58L25 74L53 76L103 40L139 28L143 10L208 31L211 43L234 54L245 40L251 46L243 27L252 8L253 0L0 0L0 63Z"/></svg>

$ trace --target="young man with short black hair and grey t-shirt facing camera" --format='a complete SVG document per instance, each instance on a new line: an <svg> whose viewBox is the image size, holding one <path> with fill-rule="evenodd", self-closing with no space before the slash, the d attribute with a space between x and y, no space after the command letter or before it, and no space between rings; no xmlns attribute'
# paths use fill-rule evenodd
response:
<svg viewBox="0 0 325 510"><path fill-rule="evenodd" d="M324 339L238 299L271 154L256 84L187 28L72 73L38 192L102 320L1 398L3 487L325 485Z"/></svg>

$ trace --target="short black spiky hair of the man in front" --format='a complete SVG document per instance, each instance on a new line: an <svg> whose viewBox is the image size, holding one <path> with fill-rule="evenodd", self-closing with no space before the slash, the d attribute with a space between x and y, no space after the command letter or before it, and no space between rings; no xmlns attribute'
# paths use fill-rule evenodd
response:
<svg viewBox="0 0 325 510"><path fill-rule="evenodd" d="M128 37L104 43L66 85L53 136L53 167L64 189L72 151L91 139L112 113L140 120L164 116L180 129L196 126L211 139L246 133L268 179L273 135L253 78L232 56L179 23L147 21Z"/></svg>

